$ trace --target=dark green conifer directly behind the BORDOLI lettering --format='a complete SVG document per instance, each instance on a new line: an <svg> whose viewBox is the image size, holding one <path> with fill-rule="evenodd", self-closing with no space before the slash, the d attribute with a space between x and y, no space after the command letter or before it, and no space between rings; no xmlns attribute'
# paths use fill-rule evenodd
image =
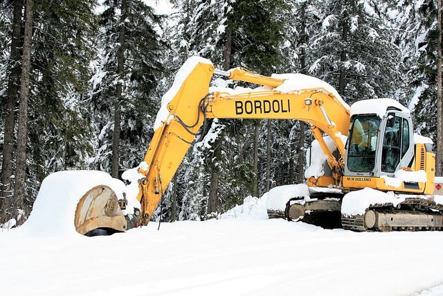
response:
<svg viewBox="0 0 443 296"><path fill-rule="evenodd" d="M287 6L284 1L233 2L226 27L231 39L231 67L245 67L264 75L281 71L282 56L279 45L282 43L283 23L278 17L278 12L285 9ZM228 150L242 153L233 157L237 162L235 166L238 167L238 175L233 182L239 184L239 188L246 189L243 197L247 194L260 196L264 191L259 182L266 182L262 181L261 177L266 175L266 169L262 170L260 165L260 159L266 159L266 146L262 145L266 138L260 137L260 130L265 124L259 120L242 120L237 121L237 124L239 126L233 130L239 131L239 134L231 134L230 138L235 140L239 149Z"/></svg>

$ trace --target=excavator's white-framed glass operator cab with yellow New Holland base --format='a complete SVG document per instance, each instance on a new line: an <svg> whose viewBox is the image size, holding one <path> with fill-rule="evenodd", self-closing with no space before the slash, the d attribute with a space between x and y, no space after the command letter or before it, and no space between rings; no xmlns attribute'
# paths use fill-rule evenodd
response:
<svg viewBox="0 0 443 296"><path fill-rule="evenodd" d="M383 103L383 99L379 102ZM386 177L396 177L400 170L423 169L426 173L432 171L431 167L419 166L426 162L426 155L417 150L421 146L414 145L413 125L408 110L397 106L397 102L393 100L386 101L383 112L380 111L380 106L368 104L371 102L358 103L365 105L359 108L365 110L365 113L352 114L351 117L350 133L345 147L343 186L423 193L425 186L419 182L402 184L395 188L385 182Z"/></svg>

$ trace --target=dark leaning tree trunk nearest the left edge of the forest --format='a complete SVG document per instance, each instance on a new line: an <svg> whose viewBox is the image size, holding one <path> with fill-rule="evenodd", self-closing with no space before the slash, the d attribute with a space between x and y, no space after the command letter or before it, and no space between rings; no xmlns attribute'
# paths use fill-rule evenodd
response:
<svg viewBox="0 0 443 296"><path fill-rule="evenodd" d="M6 220L6 211L12 204L12 161L14 152L15 106L18 101L20 79L20 48L21 48L21 9L23 1L14 1L12 12L11 38L11 72L8 77L8 91L5 102L5 130L3 146L3 163L1 166L0 222Z"/></svg>

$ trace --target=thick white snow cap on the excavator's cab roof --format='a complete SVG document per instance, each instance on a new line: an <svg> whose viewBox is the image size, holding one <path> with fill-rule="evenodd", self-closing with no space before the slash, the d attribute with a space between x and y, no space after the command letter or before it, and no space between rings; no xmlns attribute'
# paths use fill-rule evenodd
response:
<svg viewBox="0 0 443 296"><path fill-rule="evenodd" d="M408 108L392 98L373 98L358 101L351 106L351 116L356 114L377 114L380 118L386 115L388 107L395 107L406 114L410 114Z"/></svg>

